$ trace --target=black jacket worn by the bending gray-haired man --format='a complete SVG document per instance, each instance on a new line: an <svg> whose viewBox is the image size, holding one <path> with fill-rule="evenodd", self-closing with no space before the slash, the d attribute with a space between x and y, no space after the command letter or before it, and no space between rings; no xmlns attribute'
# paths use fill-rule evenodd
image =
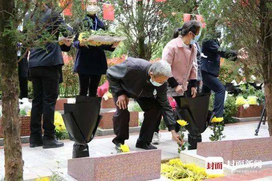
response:
<svg viewBox="0 0 272 181"><path fill-rule="evenodd" d="M107 78L111 92L116 96L125 94L129 98L137 99L154 97L156 90L156 99L161 106L165 124L169 131L174 130L175 120L167 98L167 83L154 86L148 73L150 66L151 63L146 60L128 57L123 63L110 67Z"/></svg>

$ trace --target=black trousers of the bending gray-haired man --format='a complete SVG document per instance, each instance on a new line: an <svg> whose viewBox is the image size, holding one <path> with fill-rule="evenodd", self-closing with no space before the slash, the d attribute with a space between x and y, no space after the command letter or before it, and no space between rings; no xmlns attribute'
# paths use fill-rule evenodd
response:
<svg viewBox="0 0 272 181"><path fill-rule="evenodd" d="M113 99L116 102L118 97L113 95ZM141 127L139 140L147 143L152 142L153 134L157 124L158 117L160 116L160 106L154 97L135 99L138 102L144 113L144 121ZM112 140L114 144L124 144L124 141L129 136L129 111L120 110L116 106L116 112L112 118L113 130L116 137Z"/></svg>

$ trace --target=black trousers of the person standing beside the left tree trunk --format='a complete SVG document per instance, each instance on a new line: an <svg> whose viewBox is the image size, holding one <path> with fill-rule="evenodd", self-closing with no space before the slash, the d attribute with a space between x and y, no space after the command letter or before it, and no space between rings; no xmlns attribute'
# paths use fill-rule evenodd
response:
<svg viewBox="0 0 272 181"><path fill-rule="evenodd" d="M54 112L58 97L59 68L59 66L39 66L29 69L33 84L30 143L41 139L41 119L43 137L52 139L55 136Z"/></svg>

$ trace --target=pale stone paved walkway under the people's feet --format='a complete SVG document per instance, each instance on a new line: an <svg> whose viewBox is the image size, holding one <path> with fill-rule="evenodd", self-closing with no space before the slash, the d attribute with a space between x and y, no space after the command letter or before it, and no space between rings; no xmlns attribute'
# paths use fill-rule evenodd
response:
<svg viewBox="0 0 272 181"><path fill-rule="evenodd" d="M225 127L224 140L237 140L246 138L260 138L268 137L268 126L261 125L259 135L254 136L257 122L250 123L236 123L227 125ZM202 141L210 141L209 136L212 131L207 129L202 134ZM171 133L163 131L161 133L162 143L158 145L162 149L162 159L178 157L177 144L171 140ZM185 134L186 135L186 134ZM113 143L111 143L113 136L96 137L89 143L90 156L103 156L116 153ZM186 136L185 136L186 137ZM126 144L131 151L141 150L135 148L135 142L138 134L131 134ZM67 173L67 159L72 158L73 142L70 140L64 141L64 147L53 149L29 148L28 144L23 145L23 159L24 164L24 179L31 179L39 176L48 176L52 171ZM0 147L0 180L4 177L4 149Z"/></svg>

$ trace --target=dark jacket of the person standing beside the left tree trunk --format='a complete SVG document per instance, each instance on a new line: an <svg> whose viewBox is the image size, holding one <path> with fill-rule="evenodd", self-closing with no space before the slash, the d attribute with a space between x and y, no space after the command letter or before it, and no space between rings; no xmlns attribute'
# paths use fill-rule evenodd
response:
<svg viewBox="0 0 272 181"><path fill-rule="evenodd" d="M29 67L36 66L55 66L55 65L63 65L63 58L61 54L61 48L57 42L59 33L61 32L64 37L67 37L69 33L72 34L71 29L65 24L62 17L59 13L53 13L51 9L47 9L40 15L33 15L33 13L28 13L24 19L24 29L26 29L25 23L30 19L32 22L36 22L38 19L38 23L40 26L45 25L48 33L55 33L56 43L48 43L44 48L32 48L30 50L29 55ZM40 37L37 36L37 39Z"/></svg>

